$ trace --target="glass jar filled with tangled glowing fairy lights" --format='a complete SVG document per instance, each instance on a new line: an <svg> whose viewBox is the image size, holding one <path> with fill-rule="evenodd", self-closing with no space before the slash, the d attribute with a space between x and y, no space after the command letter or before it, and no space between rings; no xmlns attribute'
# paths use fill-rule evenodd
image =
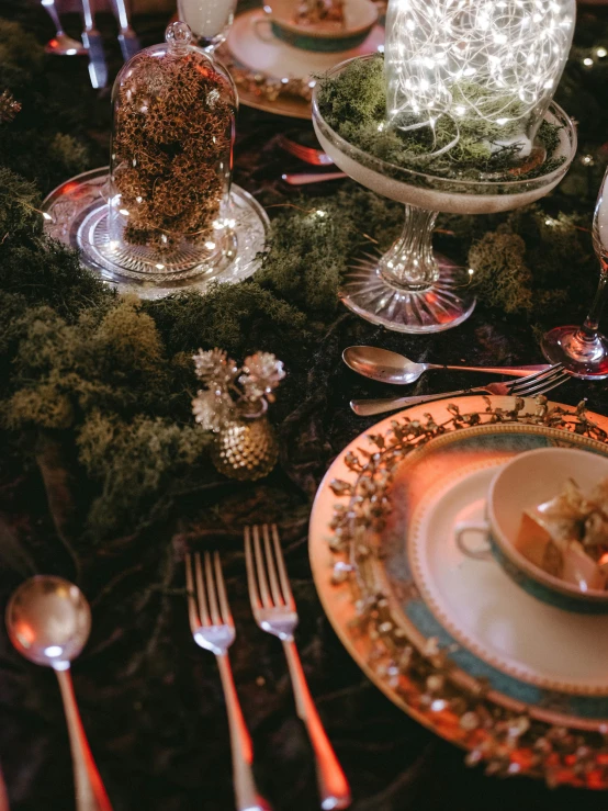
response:
<svg viewBox="0 0 608 811"><path fill-rule="evenodd" d="M441 116L461 132L487 125L494 148L531 150L565 65L576 0L390 0L385 70L389 121L403 131ZM498 133L495 131L498 129Z"/></svg>

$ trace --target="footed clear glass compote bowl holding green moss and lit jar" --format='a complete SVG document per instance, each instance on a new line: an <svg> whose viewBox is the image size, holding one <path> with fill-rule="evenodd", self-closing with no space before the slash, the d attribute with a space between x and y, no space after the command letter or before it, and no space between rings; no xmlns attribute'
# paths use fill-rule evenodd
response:
<svg viewBox="0 0 608 811"><path fill-rule="evenodd" d="M341 72L349 61L337 65L328 78ZM367 320L401 333L438 333L461 324L475 306L470 286L474 269L458 267L434 254L438 213L493 214L548 194L564 177L576 151L571 120L555 103L544 114L545 121L560 127L560 143L552 157L563 161L552 171L542 173L544 151L533 148L529 160L537 164L528 165L537 169L532 178L519 178L520 168L513 170L513 180L504 173L461 180L395 166L348 143L323 117L319 92L317 83L313 123L325 151L353 180L405 205L401 237L384 256L361 257L351 268L340 293L344 303Z"/></svg>

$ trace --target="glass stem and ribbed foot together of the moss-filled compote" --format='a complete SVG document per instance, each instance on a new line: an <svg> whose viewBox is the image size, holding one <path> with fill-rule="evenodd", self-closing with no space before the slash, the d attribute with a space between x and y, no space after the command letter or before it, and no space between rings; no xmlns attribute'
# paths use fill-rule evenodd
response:
<svg viewBox="0 0 608 811"><path fill-rule="evenodd" d="M432 252L436 212L405 206L401 237L382 257L360 257L340 291L347 307L402 333L438 333L465 320L475 306L470 277Z"/></svg>

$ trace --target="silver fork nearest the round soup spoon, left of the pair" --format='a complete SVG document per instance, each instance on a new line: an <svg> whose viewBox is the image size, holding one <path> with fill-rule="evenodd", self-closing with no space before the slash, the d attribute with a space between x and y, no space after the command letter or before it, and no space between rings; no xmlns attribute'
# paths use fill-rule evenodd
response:
<svg viewBox="0 0 608 811"><path fill-rule="evenodd" d="M236 632L217 552L213 554L213 563L210 553L205 552L204 578L201 555L198 552L194 555L194 574L192 555L190 553L185 555L185 586L190 630L194 642L215 654L219 668L230 730L237 811L272 811L269 803L258 793L251 770L254 747L228 660L228 647L235 641Z"/></svg>

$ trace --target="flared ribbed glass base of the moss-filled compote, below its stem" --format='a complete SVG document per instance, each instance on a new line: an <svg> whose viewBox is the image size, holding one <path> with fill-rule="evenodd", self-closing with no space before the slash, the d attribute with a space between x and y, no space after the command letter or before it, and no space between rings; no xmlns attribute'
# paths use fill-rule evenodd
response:
<svg viewBox="0 0 608 811"><path fill-rule="evenodd" d="M412 291L389 282L379 259L364 256L350 268L340 299L372 324L397 333L441 333L466 320L475 308L465 270L437 256L440 275L430 286Z"/></svg>

